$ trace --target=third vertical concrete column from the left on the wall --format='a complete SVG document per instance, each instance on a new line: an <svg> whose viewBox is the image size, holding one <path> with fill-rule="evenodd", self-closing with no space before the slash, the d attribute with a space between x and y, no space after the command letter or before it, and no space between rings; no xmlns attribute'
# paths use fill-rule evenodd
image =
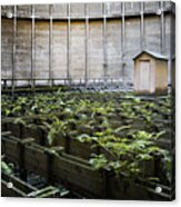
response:
<svg viewBox="0 0 181 207"><path fill-rule="evenodd" d="M52 26L53 26L53 18L52 18L52 7L49 6L49 16L50 16L50 24L49 24L49 83L52 86Z"/></svg>

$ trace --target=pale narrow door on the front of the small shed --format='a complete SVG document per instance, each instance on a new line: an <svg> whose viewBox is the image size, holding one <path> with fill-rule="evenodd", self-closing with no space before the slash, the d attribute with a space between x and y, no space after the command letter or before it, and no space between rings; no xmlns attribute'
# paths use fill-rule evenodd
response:
<svg viewBox="0 0 181 207"><path fill-rule="evenodd" d="M151 89L151 71L150 71L150 61L142 60L140 61L140 90Z"/></svg>

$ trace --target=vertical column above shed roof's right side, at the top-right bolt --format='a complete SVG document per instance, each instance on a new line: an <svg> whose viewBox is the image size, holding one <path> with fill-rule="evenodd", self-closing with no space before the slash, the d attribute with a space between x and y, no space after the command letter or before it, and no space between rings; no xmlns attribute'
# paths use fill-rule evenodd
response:
<svg viewBox="0 0 181 207"><path fill-rule="evenodd" d="M160 10L161 10L161 16L160 16L160 24L161 24L161 53L164 53L164 46L165 46L165 28L164 28L164 2L160 2Z"/></svg>

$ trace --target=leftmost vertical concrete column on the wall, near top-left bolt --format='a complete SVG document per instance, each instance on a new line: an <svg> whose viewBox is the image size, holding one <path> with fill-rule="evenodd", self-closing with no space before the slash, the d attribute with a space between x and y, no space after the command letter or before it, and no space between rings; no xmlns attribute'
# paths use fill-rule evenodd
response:
<svg viewBox="0 0 181 207"><path fill-rule="evenodd" d="M13 43L12 43L12 92L14 89L16 76L16 53L17 53L17 6L13 6Z"/></svg>

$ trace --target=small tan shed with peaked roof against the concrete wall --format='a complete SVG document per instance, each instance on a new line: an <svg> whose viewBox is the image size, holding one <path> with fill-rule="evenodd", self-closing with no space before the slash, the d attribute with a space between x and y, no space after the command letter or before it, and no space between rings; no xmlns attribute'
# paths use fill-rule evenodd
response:
<svg viewBox="0 0 181 207"><path fill-rule="evenodd" d="M168 91L168 58L148 50L134 58L134 90L139 93Z"/></svg>

